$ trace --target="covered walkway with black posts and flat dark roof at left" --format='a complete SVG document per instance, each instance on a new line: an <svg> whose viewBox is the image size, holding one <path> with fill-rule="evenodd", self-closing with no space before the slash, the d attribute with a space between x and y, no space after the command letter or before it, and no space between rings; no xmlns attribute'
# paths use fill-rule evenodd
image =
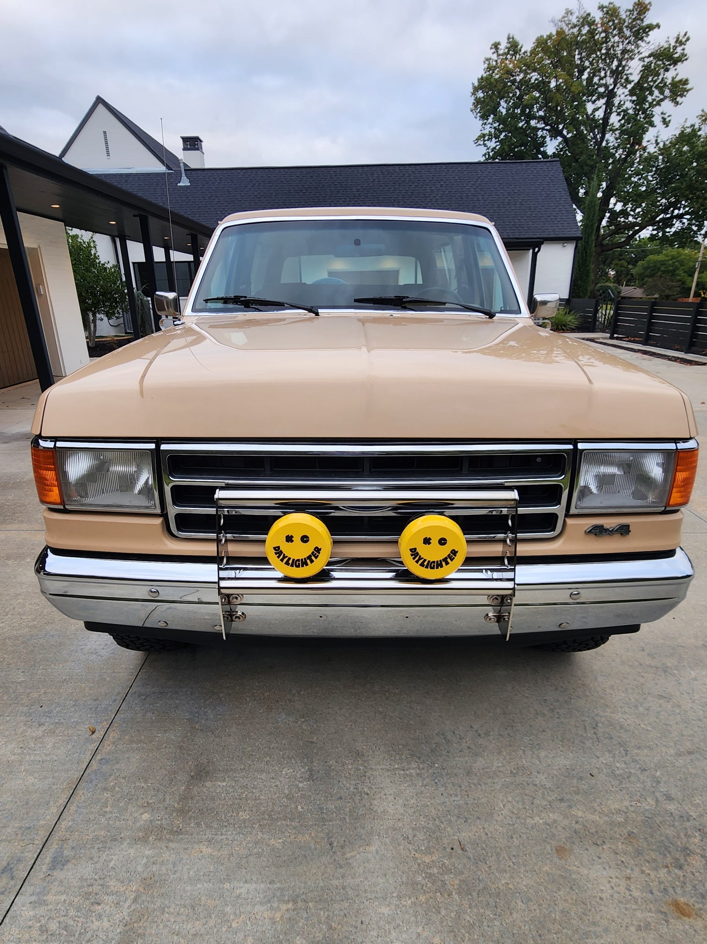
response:
<svg viewBox="0 0 707 944"><path fill-rule="evenodd" d="M211 234L203 223L130 194L0 129L0 387L37 378L41 389L89 362L65 227L119 246L130 326L140 337L128 241L142 244L149 295L155 246L189 253L194 269ZM157 329L153 314L154 328Z"/></svg>

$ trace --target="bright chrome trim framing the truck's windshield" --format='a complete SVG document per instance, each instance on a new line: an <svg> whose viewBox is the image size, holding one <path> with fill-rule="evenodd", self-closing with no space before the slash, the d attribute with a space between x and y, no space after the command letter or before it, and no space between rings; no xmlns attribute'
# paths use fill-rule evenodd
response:
<svg viewBox="0 0 707 944"><path fill-rule="evenodd" d="M194 278L194 281L191 284L191 288L189 289L189 295L187 297L187 301L184 306L184 312L182 312L182 317L183 318L185 317L204 318L204 317L213 317L214 315L220 316L220 315L225 315L225 314L241 314L241 313L247 312L247 310L244 310L243 312L238 312L238 311L192 312L191 310L191 304L196 298L196 295L198 294L199 286L201 285L202 279L204 278L206 274L206 264L211 258L211 255L216 247L216 244L218 243L219 238L221 237L221 234L225 229L228 229L231 227L241 227L241 226L246 226L246 225L251 226L256 223L285 223L285 222L303 223L306 221L327 221L327 220L328 221L331 221L331 220L383 220L386 222L390 222L390 221L396 221L396 220L401 220L401 219L404 219L405 221L416 222L416 223L440 223L440 224L449 223L449 224L457 224L460 226L479 227L479 228L486 229L491 234L491 238L496 244L496 248L501 253L501 257L503 258L503 260L508 261L507 259L508 253L505 246L503 245L503 242L501 240L501 236L499 235L498 230L492 224L485 223L482 220L469 220L469 219L464 219L463 217L452 217L452 216L444 216L444 217L426 216L426 215L407 216L406 214L404 216L399 216L397 214L392 214L392 213L374 213L373 214L373 213L360 213L360 212L337 213L336 216L320 215L316 213L305 213L302 215L299 215L299 214L298 215L290 215L290 214L285 215L285 214L281 214L279 211L272 211L272 215L269 215L269 216L257 216L257 217L246 216L241 220L225 220L222 223L220 223L216 229L214 229L211 239L209 240L208 245L206 246L206 252L204 254L204 258L202 259L199 265L197 278ZM510 261L508 262L509 264L508 264L507 274L508 274L508 278L511 281L511 287L513 288L514 294L516 295L516 301L518 302L518 308L520 309L520 311L516 312L515 314L511 314L509 312L505 312L505 313L497 312L496 317L497 318L530 318L531 314L528 310L528 305L525 301L525 297L523 293L520 291L520 286L518 284L518 279L516 278L516 273L513 269L513 265L510 264ZM333 314L336 314L337 312L373 312L372 306L370 309L369 308L357 309L357 308L346 308L346 307L328 308L325 305L321 305L319 306L319 308L320 308L320 312L332 312ZM271 313L282 314L285 312L297 312L297 311L299 311L299 309L283 308L282 310L271 310ZM439 306L439 308L435 308L435 306L433 305L425 306L425 312L430 313L430 314L432 313L452 314L453 311L455 310L452 310L452 308L450 307L445 308L444 306ZM386 312L375 312L375 313L390 314L390 309L387 309ZM472 314L472 312L468 312L468 313Z"/></svg>

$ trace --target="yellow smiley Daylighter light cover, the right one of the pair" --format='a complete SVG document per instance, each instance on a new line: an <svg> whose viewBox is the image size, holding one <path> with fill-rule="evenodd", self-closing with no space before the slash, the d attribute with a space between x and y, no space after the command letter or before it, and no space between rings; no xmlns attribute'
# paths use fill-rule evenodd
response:
<svg viewBox="0 0 707 944"><path fill-rule="evenodd" d="M403 564L416 577L434 581L464 564L464 531L444 514L423 514L411 521L398 539Z"/></svg>

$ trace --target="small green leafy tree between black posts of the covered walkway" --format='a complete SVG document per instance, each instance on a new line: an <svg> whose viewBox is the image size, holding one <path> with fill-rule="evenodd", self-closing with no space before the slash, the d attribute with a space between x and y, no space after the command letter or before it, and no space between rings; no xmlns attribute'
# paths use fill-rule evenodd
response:
<svg viewBox="0 0 707 944"><path fill-rule="evenodd" d="M66 239L74 270L78 307L89 347L94 347L99 316L120 318L127 310L125 283L118 266L104 262L98 255L96 241L92 236L85 239L78 233L67 232Z"/></svg>

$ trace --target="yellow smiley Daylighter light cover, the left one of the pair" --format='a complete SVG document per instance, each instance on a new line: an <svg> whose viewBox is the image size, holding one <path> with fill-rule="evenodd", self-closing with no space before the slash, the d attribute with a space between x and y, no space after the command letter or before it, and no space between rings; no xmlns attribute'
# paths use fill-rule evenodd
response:
<svg viewBox="0 0 707 944"><path fill-rule="evenodd" d="M332 536L314 514L285 514L268 531L265 553L286 577L312 577L332 555Z"/></svg>

